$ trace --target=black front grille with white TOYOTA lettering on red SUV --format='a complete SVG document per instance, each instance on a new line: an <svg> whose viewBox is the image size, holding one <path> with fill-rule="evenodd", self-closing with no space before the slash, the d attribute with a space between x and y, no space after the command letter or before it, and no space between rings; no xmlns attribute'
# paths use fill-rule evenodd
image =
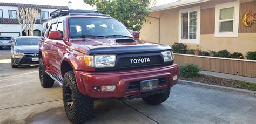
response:
<svg viewBox="0 0 256 124"><path fill-rule="evenodd" d="M161 65L163 64L163 58L160 53L149 54L134 54L130 56L122 56L118 59L118 68L130 68L130 67L143 67L151 65Z"/></svg>

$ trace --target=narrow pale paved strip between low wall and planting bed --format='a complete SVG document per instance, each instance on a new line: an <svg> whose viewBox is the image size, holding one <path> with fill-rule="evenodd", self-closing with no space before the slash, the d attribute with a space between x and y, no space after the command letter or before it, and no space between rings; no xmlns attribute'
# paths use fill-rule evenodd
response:
<svg viewBox="0 0 256 124"><path fill-rule="evenodd" d="M239 75L224 74L224 73L210 72L210 71L201 71L200 74L212 75L212 76L220 77L220 78L226 78L226 79L233 79L233 80L240 80L240 81L256 83L256 78L243 77L243 76L239 76Z"/></svg>

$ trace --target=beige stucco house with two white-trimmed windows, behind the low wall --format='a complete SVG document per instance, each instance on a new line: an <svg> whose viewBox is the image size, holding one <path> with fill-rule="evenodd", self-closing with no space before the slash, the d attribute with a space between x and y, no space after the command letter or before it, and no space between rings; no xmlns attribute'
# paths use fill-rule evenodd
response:
<svg viewBox="0 0 256 124"><path fill-rule="evenodd" d="M161 44L184 43L189 49L231 53L256 50L256 24L242 23L255 0L177 1L151 8L140 38Z"/></svg>

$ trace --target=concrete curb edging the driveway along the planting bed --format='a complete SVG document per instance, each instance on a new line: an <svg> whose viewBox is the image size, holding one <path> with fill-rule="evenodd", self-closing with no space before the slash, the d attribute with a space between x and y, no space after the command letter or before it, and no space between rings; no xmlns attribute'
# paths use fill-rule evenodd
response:
<svg viewBox="0 0 256 124"><path fill-rule="evenodd" d="M231 87L225 87L225 86L219 86L219 85L211 85L211 84L204 84L204 83L201 83L201 82L194 82L194 81L187 81L187 80L179 80L178 84L190 85L190 86L199 86L199 87L205 87L205 88L211 88L211 89L218 89L220 91L242 93L242 94L246 94L246 95L253 95L256 98L256 91L250 91L250 90L247 90L247 89L237 89L237 88L231 88Z"/></svg>

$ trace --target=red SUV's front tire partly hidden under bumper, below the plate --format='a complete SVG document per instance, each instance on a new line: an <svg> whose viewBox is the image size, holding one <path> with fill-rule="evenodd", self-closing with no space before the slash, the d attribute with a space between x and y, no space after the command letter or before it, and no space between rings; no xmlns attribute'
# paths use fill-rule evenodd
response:
<svg viewBox="0 0 256 124"><path fill-rule="evenodd" d="M161 104L169 98L170 88L168 88L164 93L151 95L149 97L142 98L147 104L157 105Z"/></svg>

